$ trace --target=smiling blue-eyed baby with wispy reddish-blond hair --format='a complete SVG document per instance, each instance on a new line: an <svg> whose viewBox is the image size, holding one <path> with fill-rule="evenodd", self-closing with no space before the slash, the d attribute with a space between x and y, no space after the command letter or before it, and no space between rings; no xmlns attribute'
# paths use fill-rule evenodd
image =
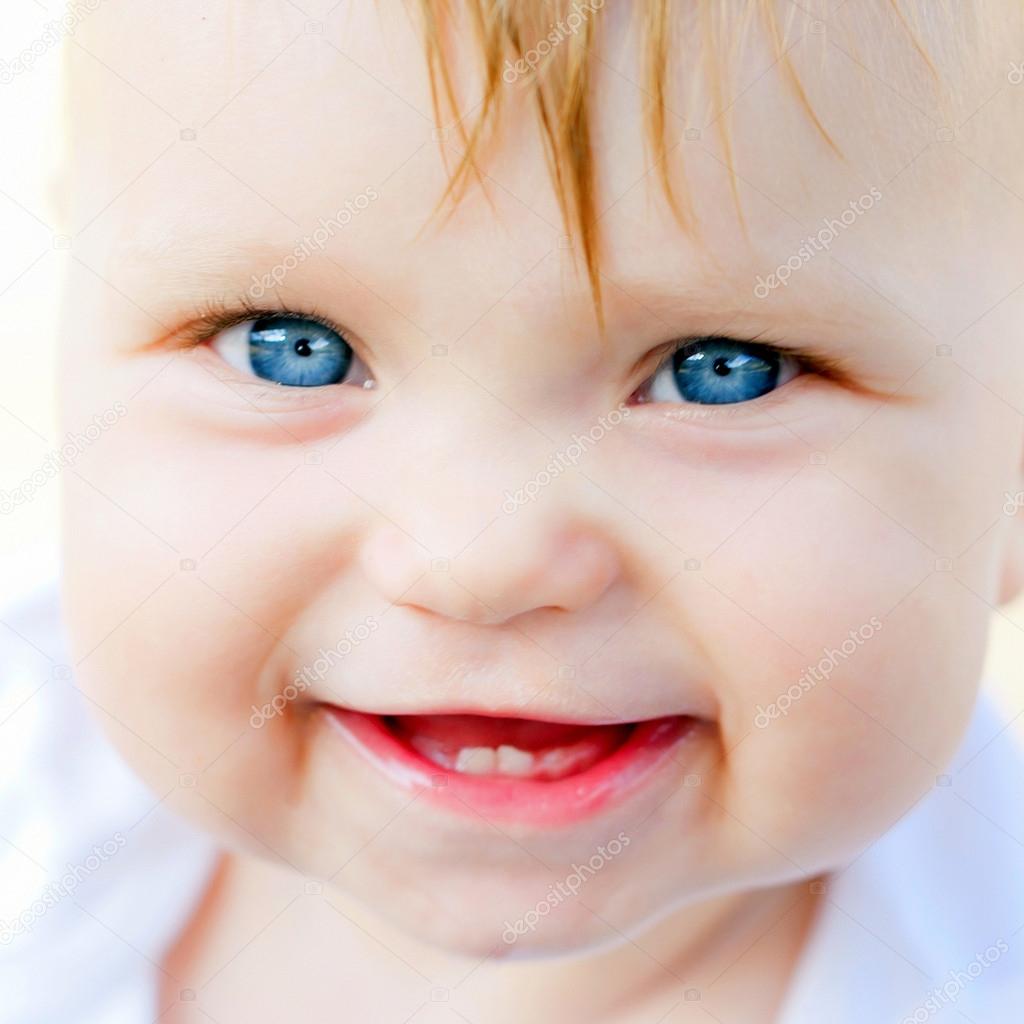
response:
<svg viewBox="0 0 1024 1024"><path fill-rule="evenodd" d="M1022 23L80 19L69 663L219 851L137 1019L1019 1019Z"/></svg>

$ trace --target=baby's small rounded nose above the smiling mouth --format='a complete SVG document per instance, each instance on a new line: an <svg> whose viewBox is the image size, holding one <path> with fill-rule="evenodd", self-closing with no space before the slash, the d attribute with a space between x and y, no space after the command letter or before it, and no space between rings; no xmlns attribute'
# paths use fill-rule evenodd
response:
<svg viewBox="0 0 1024 1024"><path fill-rule="evenodd" d="M596 601L618 554L586 481L570 468L552 474L555 444L527 423L455 432L461 443L437 444L452 432L434 423L434 444L406 449L400 519L378 523L364 546L371 582L393 603L476 623Z"/></svg>

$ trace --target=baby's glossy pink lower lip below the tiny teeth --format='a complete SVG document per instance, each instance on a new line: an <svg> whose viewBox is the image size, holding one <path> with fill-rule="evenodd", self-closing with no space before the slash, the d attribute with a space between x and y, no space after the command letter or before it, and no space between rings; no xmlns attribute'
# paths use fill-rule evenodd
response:
<svg viewBox="0 0 1024 1024"><path fill-rule="evenodd" d="M330 720L401 788L464 814L567 825L622 804L671 771L673 755L698 724L683 716L638 722L625 742L585 771L557 780L467 775L427 760L377 715L325 705Z"/></svg>

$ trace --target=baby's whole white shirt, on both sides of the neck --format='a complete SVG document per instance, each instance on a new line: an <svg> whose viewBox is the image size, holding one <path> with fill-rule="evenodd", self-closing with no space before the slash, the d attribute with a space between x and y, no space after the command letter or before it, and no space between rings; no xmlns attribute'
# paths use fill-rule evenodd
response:
<svg viewBox="0 0 1024 1024"><path fill-rule="evenodd" d="M52 581L0 623L0 1024L151 1024L215 848L100 735ZM1022 1020L1024 757L983 701L935 788L828 882L778 1024Z"/></svg>

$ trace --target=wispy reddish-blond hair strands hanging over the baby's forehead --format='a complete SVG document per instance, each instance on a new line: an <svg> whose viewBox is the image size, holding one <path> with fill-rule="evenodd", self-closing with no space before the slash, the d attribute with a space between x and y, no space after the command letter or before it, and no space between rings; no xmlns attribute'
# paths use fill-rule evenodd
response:
<svg viewBox="0 0 1024 1024"><path fill-rule="evenodd" d="M923 24L921 12L912 10L909 14L904 13L900 0L879 2L906 31L912 50L927 73L937 78L935 66L921 41L923 35L933 34L927 31L930 27ZM600 22L605 15L606 0L573 0L571 6L569 0L464 0L459 4L458 16L468 19L471 26L481 68L480 98L466 114L459 113L460 99L449 59L449 36L453 34L456 16L451 0L418 0L415 6L423 28L435 120L438 127L443 128L445 122L452 119L462 146L459 159L454 166L449 166L449 183L438 209L457 203L471 182L483 184L481 154L494 134L509 85L503 77L503 68L507 71L509 67L522 66L526 69L521 76L522 85L527 98L532 100L540 122L562 220L567 233L579 245L600 318L600 238L590 105L593 51ZM940 8L945 9L943 16L947 23L950 19L956 23L958 15L945 0L929 0L927 18L936 22ZM710 73L711 98L719 110L727 110L728 100L725 96L723 61L718 57L723 49L734 54L760 15L760 24L773 45L776 61L790 88L824 142L841 156L794 70L787 53L785 26L780 24L775 0L688 0L686 3L633 0L631 9L643 23L646 141L663 193L684 229L695 229L693 211L685 184L681 184L673 174L673 146L667 137L666 119L666 96L676 50L674 33L682 14L690 16L699 26L701 63ZM556 35L552 31L552 19L555 19L554 24L562 25L572 12L578 15L572 31L567 35L557 34L557 44L549 44L542 62L527 61L526 55L532 47L538 47L534 52L540 51L539 41ZM959 20L963 20L962 16ZM728 47L723 46L726 42ZM519 77L515 84L519 86ZM719 119L718 125L733 200L742 220L727 122L726 116ZM443 138L444 132L440 135Z"/></svg>

